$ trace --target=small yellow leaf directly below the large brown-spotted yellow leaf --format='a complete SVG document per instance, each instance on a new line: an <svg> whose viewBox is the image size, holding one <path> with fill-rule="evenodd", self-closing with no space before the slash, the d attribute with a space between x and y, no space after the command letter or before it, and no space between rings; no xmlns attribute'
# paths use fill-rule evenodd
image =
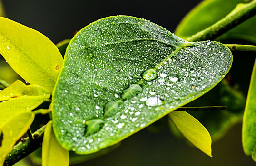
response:
<svg viewBox="0 0 256 166"><path fill-rule="evenodd" d="M41 86L26 86L24 83L22 83L22 81L17 80L0 92L0 101L26 96L33 96L34 98L40 99L48 99L50 97L50 92Z"/></svg>

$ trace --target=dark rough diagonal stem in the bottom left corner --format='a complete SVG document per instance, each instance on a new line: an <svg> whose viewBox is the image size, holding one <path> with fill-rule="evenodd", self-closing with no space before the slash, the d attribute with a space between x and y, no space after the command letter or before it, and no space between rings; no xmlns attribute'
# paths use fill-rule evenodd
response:
<svg viewBox="0 0 256 166"><path fill-rule="evenodd" d="M28 156L33 151L40 148L43 142L44 129L45 126L41 127L32 134L34 137L33 142L31 142L30 138L27 137L15 145L11 149L11 152L8 154L8 156L5 158L3 166L12 166L24 157Z"/></svg>

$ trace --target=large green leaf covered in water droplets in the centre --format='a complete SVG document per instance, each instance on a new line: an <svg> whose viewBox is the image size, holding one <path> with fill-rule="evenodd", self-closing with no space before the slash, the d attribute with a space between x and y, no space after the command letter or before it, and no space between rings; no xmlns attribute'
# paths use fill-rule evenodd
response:
<svg viewBox="0 0 256 166"><path fill-rule="evenodd" d="M83 28L65 55L53 94L53 127L61 145L79 154L113 145L195 100L232 63L220 43L190 43L129 16ZM92 120L98 119L104 124L99 120L95 128Z"/></svg>

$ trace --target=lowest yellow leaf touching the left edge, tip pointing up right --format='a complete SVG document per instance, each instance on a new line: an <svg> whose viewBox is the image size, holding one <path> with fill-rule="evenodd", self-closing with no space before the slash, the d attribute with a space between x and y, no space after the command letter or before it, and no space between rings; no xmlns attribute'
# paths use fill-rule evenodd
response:
<svg viewBox="0 0 256 166"><path fill-rule="evenodd" d="M0 166L3 165L5 157L11 151L15 142L30 128L34 117L35 115L32 112L23 112L13 116L0 127L3 134L0 146Z"/></svg>

